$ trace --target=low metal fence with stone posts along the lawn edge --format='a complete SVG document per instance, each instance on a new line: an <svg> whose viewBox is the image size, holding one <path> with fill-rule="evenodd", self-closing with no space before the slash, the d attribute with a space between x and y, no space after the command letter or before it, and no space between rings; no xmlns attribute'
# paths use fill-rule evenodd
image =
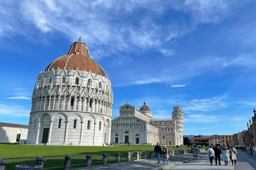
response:
<svg viewBox="0 0 256 170"><path fill-rule="evenodd" d="M207 149L197 149L198 152L205 152ZM169 150L169 155L180 155L192 153L191 149ZM132 151L132 152L111 152L93 154L58 155L27 158L6 158L6 170L15 169L19 164L37 164L43 169L64 170L69 168L88 167L116 162L148 159L155 157L154 151ZM0 162L2 161L0 159Z"/></svg>

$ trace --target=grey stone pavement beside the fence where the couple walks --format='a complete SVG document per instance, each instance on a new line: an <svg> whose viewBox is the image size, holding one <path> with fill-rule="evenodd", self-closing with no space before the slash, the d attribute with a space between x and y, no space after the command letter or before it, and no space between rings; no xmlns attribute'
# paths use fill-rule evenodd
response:
<svg viewBox="0 0 256 170"><path fill-rule="evenodd" d="M149 159L141 159L135 161L126 161L121 163L112 163L107 165L95 165L92 167L85 167L85 168L77 168L76 170L131 170L131 169L140 169L140 170L161 170L161 169L169 169L172 166L182 164L188 161L196 160L198 158L206 157L206 152L198 152L198 157L193 157L193 154L181 154L181 155L172 155L169 158L169 164L163 165L163 158L160 158L160 164L157 164L157 158L149 158ZM74 170L74 169L73 169Z"/></svg>

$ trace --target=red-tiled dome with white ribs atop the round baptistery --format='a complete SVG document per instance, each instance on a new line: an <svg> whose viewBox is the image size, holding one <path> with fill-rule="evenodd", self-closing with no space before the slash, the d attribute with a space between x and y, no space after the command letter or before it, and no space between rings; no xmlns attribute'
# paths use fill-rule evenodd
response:
<svg viewBox="0 0 256 170"><path fill-rule="evenodd" d="M81 40L75 41L71 44L67 55L63 55L53 62L51 62L45 69L49 71L52 69L66 69L66 70L84 70L91 71L92 73L107 77L103 68L91 59L88 47Z"/></svg>

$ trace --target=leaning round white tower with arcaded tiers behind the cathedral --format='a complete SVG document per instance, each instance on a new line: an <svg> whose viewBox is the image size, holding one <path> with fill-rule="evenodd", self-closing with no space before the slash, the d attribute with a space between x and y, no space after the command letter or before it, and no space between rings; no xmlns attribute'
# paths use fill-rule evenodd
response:
<svg viewBox="0 0 256 170"><path fill-rule="evenodd" d="M182 107L174 106L172 112L172 119L176 121L176 127L179 128L179 143L178 145L183 145L183 112Z"/></svg>

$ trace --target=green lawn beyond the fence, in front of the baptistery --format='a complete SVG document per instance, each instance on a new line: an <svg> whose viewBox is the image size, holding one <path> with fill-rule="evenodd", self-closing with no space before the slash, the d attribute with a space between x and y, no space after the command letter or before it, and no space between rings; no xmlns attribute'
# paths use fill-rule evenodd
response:
<svg viewBox="0 0 256 170"><path fill-rule="evenodd" d="M163 147L163 146L162 146ZM174 149L173 146L167 146ZM175 148L177 149L177 148ZM179 149L186 149L181 146ZM44 146L44 145L12 145L0 144L0 158L21 158L54 155L73 155L87 153L110 153L126 151L151 151L154 146L149 145L115 145L115 146Z"/></svg>

